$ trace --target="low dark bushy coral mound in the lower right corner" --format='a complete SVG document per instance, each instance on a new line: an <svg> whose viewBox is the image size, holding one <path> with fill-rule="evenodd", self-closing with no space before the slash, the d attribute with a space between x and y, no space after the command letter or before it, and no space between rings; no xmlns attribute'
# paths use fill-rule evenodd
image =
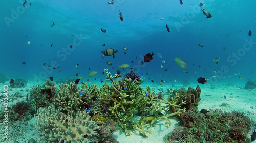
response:
<svg viewBox="0 0 256 143"><path fill-rule="evenodd" d="M246 142L251 128L252 121L244 113L216 109L202 114L195 107L182 115L180 125L164 142Z"/></svg>

